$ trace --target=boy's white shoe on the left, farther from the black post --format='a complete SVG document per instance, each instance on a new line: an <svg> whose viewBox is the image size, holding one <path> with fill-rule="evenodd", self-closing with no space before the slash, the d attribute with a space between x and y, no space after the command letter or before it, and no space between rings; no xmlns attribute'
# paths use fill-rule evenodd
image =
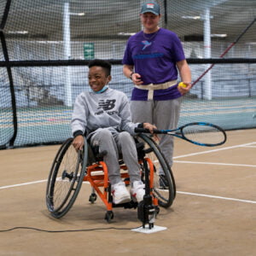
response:
<svg viewBox="0 0 256 256"><path fill-rule="evenodd" d="M131 201L131 195L123 182L111 185L111 193L113 195L113 203L116 205Z"/></svg>

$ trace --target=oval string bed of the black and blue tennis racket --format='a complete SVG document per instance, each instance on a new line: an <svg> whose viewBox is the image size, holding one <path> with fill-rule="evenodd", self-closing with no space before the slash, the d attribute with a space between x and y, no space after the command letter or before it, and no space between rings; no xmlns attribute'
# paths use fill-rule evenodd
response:
<svg viewBox="0 0 256 256"><path fill-rule="evenodd" d="M182 131L184 137L195 143L214 145L225 140L224 132L210 125L189 125Z"/></svg>

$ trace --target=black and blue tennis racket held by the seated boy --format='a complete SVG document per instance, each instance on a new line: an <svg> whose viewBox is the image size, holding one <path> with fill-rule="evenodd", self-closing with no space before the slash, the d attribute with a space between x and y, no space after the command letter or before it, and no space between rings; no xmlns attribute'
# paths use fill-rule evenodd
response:
<svg viewBox="0 0 256 256"><path fill-rule="evenodd" d="M135 128L137 133L149 133L148 129ZM218 125L204 122L194 122L182 125L174 130L154 130L157 134L168 134L199 146L214 147L226 142L225 131Z"/></svg>

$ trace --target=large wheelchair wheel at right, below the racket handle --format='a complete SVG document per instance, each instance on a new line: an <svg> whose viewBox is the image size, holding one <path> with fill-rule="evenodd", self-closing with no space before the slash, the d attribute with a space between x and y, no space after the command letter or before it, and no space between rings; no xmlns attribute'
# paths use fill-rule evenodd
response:
<svg viewBox="0 0 256 256"><path fill-rule="evenodd" d="M158 199L160 207L171 207L176 195L172 169L151 137L143 133L139 134L138 137L144 143L145 157L152 160L154 164L154 197Z"/></svg>

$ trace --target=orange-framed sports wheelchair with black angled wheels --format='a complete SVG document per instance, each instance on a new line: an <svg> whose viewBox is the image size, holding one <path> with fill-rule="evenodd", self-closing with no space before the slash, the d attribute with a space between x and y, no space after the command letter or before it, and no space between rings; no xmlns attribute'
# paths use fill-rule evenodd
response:
<svg viewBox="0 0 256 256"><path fill-rule="evenodd" d="M151 137L140 133L134 139L146 190L143 202L139 203L141 206L134 201L114 205L108 181L108 166L103 161L105 152L99 154L98 148L92 148L85 138L83 150L77 151L73 148L73 138L70 137L62 143L49 172L46 205L50 214L54 218L63 217L73 207L83 182L90 183L90 203L95 203L99 196L105 204L105 219L108 223L113 218L113 207L137 208L138 218L143 221L143 225L149 223L148 214L153 208L157 214L158 206L171 207L176 186L170 166ZM122 159L119 160L119 166L121 177L125 185L129 186L127 167Z"/></svg>

